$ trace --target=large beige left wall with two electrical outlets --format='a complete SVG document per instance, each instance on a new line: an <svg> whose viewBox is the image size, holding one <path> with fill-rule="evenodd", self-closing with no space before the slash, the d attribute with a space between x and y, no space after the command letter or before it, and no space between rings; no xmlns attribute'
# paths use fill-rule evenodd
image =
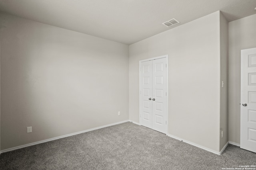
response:
<svg viewBox="0 0 256 170"><path fill-rule="evenodd" d="M128 45L9 14L0 23L2 150L128 120Z"/></svg>

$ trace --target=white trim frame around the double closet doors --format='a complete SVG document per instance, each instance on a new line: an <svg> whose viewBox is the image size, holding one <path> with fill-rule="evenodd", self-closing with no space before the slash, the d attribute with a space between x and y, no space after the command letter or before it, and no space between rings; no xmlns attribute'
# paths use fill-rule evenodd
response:
<svg viewBox="0 0 256 170"><path fill-rule="evenodd" d="M139 61L139 117L141 118L141 83L140 83L140 70L141 70L141 63L142 62L145 62L145 61L151 61L151 60L156 60L156 59L162 59L162 58L166 58L166 135L168 135L168 96L169 96L169 93L168 93L168 55L162 55L162 56L158 56L158 57L153 57L153 58L150 58L150 59L144 59L144 60L140 60ZM140 125L141 125L141 120L140 120Z"/></svg>

